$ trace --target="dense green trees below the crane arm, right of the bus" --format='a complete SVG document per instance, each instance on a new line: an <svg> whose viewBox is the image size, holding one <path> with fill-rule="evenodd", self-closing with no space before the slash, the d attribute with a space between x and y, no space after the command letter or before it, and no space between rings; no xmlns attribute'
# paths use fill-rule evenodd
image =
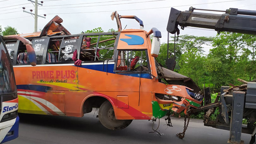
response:
<svg viewBox="0 0 256 144"><path fill-rule="evenodd" d="M215 37L182 35L176 45L175 71L191 77L200 88L210 86L218 92L220 86L241 84L237 78L246 81L256 78L256 36L230 32L222 32ZM205 54L204 47L212 49ZM157 60L163 66L166 55L166 44L162 44Z"/></svg>

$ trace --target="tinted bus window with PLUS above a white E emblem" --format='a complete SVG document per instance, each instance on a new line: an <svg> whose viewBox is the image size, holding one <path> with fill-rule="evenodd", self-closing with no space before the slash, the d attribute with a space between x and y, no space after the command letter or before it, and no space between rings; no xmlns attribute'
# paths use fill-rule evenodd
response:
<svg viewBox="0 0 256 144"><path fill-rule="evenodd" d="M47 47L47 38L33 39L32 44L36 53L36 64L41 64L43 60L44 49Z"/></svg>

